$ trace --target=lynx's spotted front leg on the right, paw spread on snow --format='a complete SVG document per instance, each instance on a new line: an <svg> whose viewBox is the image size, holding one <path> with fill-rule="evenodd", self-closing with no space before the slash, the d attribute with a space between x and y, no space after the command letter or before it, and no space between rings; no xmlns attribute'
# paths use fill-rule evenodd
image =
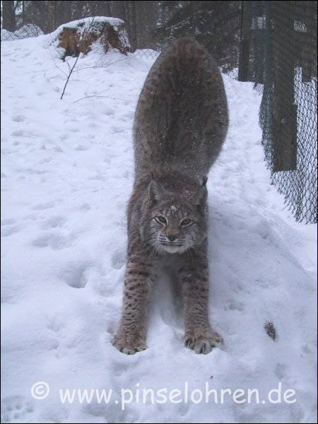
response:
<svg viewBox="0 0 318 424"><path fill-rule="evenodd" d="M184 344L196 353L209 353L222 343L222 337L208 322L207 261L196 257L179 273L184 288Z"/></svg>

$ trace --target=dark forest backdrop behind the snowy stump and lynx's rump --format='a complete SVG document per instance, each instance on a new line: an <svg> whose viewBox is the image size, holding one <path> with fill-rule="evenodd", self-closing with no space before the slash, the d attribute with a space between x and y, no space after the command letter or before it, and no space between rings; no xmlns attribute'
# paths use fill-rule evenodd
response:
<svg viewBox="0 0 318 424"><path fill-rule="evenodd" d="M241 1L2 1L3 28L34 23L45 33L71 20L113 16L126 23L131 50L192 36L223 66L237 66Z"/></svg>

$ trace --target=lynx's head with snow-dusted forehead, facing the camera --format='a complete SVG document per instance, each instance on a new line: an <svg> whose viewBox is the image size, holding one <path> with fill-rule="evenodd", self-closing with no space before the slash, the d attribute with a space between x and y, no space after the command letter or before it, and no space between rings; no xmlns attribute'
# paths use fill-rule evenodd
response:
<svg viewBox="0 0 318 424"><path fill-rule="evenodd" d="M183 253L206 238L206 179L190 195L167 191L154 179L143 204L141 235L155 252Z"/></svg>

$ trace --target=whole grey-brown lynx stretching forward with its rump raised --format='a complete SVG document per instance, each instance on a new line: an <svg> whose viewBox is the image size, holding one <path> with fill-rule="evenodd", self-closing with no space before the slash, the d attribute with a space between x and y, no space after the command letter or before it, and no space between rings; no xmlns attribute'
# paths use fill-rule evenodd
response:
<svg viewBox="0 0 318 424"><path fill-rule="evenodd" d="M194 40L177 40L153 64L136 107L124 308L114 337L123 353L146 348L148 294L167 261L184 296L185 345L208 353L222 341L208 322L206 176L227 129L218 67Z"/></svg>

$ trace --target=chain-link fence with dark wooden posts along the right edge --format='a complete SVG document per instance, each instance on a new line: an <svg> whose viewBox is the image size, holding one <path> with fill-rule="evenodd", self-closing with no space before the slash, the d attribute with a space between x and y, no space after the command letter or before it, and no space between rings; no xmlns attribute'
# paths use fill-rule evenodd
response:
<svg viewBox="0 0 318 424"><path fill-rule="evenodd" d="M317 223L317 2L244 1L240 81L263 84L259 118L273 184Z"/></svg>

